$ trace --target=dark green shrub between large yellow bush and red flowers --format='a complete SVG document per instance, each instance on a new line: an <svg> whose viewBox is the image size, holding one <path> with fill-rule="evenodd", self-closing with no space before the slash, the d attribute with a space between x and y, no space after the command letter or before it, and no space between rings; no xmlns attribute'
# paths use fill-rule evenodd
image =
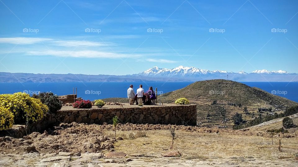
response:
<svg viewBox="0 0 298 167"><path fill-rule="evenodd" d="M62 108L62 101L52 92L43 92L38 95L33 94L32 97L39 99L43 104L47 105L50 113L57 113L57 111Z"/></svg>

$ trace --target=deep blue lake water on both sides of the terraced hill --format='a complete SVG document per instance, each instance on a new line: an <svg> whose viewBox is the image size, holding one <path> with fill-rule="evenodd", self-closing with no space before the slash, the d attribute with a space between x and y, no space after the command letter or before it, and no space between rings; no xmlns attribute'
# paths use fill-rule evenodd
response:
<svg viewBox="0 0 298 167"><path fill-rule="evenodd" d="M158 88L158 93L166 93L183 88L193 82L146 82L143 88L148 90L149 86ZM298 82L242 82L251 87L263 89L269 93L285 97L298 102ZM78 88L78 97L95 100L108 97L127 97L127 88L130 84L136 90L138 83L105 82L105 83L0 83L0 94L26 92L32 95L38 92L53 92L57 95L73 94L73 87Z"/></svg>

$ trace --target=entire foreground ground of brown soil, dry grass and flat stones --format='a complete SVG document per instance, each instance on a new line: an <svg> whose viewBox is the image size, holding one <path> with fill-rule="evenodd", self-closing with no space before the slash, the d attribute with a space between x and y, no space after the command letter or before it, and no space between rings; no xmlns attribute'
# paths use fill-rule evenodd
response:
<svg viewBox="0 0 298 167"><path fill-rule="evenodd" d="M270 133L249 129L127 123L116 128L116 139L113 129L73 122L2 137L0 166L298 166L298 134L275 134L272 145Z"/></svg>

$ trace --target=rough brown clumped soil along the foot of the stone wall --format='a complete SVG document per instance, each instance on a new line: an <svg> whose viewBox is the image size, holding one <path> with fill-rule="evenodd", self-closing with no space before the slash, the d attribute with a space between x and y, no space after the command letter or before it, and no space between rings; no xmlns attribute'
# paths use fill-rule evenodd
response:
<svg viewBox="0 0 298 167"><path fill-rule="evenodd" d="M168 130L170 127L177 131L186 132L188 134L224 134L234 135L236 137L243 136L260 136L264 138L271 138L271 133L265 131L251 131L244 130L229 130L219 128L208 128L198 126L176 126L176 125L153 125L153 124L119 124L116 128L118 134L127 134L120 136L124 139L133 138L129 134L131 131L156 131ZM24 139L14 139L11 137L0 138L0 153L23 153L34 152L35 149L40 153L57 153L57 152L101 152L103 150L113 151L114 143L114 130L111 124L60 124L52 129L48 129L43 133L34 132L30 135L24 136ZM121 133L123 132L123 133ZM157 131L156 131L157 132ZM144 133L138 133L144 134ZM130 135L130 137L128 136ZM144 135L146 136L146 135ZM275 138L298 138L298 134L277 134ZM186 140L186 139L185 139ZM195 140L195 139L190 139ZM213 140L212 138L210 140ZM237 141L238 142L238 141ZM240 141L239 141L240 142ZM28 150L28 148L30 148ZM35 149L34 149L35 148ZM33 149L33 150L31 150Z"/></svg>

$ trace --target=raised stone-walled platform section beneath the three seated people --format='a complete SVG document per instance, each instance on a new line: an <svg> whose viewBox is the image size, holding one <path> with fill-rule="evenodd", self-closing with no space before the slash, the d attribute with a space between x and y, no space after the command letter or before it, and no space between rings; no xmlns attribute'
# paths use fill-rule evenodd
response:
<svg viewBox="0 0 298 167"><path fill-rule="evenodd" d="M117 116L121 123L196 125L196 105L104 105L102 108L74 109L63 106L56 114L61 122L112 123Z"/></svg>

